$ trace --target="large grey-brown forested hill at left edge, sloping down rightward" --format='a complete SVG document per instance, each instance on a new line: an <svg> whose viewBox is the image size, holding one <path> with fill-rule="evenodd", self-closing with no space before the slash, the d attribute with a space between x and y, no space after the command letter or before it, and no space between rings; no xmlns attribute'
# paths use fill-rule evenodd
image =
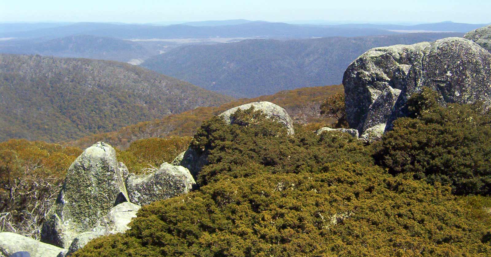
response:
<svg viewBox="0 0 491 257"><path fill-rule="evenodd" d="M231 97L124 63L0 54L0 140L61 141Z"/></svg>

